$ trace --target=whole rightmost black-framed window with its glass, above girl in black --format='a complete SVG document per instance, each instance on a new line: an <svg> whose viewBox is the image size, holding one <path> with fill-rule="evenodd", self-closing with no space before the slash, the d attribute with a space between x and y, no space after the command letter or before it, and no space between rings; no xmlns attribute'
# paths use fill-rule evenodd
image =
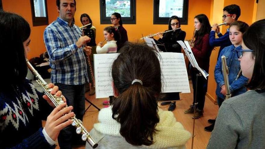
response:
<svg viewBox="0 0 265 149"><path fill-rule="evenodd" d="M154 0L154 24L168 24L171 16L178 16L181 24L188 24L189 0Z"/></svg>

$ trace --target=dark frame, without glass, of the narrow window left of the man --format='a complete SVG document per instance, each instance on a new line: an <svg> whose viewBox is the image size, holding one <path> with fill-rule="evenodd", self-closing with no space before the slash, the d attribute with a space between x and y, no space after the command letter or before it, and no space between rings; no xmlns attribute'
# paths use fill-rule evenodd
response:
<svg viewBox="0 0 265 149"><path fill-rule="evenodd" d="M48 10L47 10L47 0L44 0L44 2L45 2L46 17L35 17L34 0L30 0L33 26L43 26L43 25L48 25L49 24L49 21L48 21Z"/></svg>

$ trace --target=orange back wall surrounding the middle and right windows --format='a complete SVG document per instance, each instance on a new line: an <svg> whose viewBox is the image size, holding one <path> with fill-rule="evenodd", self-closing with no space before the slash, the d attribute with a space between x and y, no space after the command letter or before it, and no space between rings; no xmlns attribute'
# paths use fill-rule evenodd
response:
<svg viewBox="0 0 265 149"><path fill-rule="evenodd" d="M196 7L192 7L196 6ZM189 0L189 17L188 25L181 25L182 30L186 31L186 39L191 39L193 34L193 18L196 14L204 13L210 16L211 0ZM80 15L83 13L89 14L96 27L96 42L104 40L103 29L111 24L100 24L99 1L78 0L76 4L75 20L76 25L82 26ZM129 41L136 41L142 37L142 34L157 33L167 30L167 25L153 25L153 0L137 0L136 1L136 24L124 24L127 30Z"/></svg>

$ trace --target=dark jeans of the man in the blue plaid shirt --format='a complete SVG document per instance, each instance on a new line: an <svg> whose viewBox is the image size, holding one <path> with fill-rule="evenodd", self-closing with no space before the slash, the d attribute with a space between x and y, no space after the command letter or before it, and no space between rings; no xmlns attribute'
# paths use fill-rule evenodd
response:
<svg viewBox="0 0 265 149"><path fill-rule="evenodd" d="M67 100L67 105L73 106L76 118L82 121L85 113L85 85L67 85L62 83L55 83L55 85L62 91ZM58 143L61 149L71 149L72 142L81 140L81 135L77 135L75 130L76 128L71 125L61 130L58 136Z"/></svg>

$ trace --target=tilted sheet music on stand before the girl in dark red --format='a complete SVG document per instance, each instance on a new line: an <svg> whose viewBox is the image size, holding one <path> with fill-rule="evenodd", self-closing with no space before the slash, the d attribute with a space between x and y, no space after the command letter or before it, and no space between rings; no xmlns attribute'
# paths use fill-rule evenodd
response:
<svg viewBox="0 0 265 149"><path fill-rule="evenodd" d="M194 54L192 53L192 49L189 45L189 42L188 41L182 42L181 40L179 40L177 42L179 43L179 45L181 45L181 47L185 51L190 63L192 64L192 67L197 68L197 70L201 72L201 74L204 76L204 78L207 79L207 76L209 76L209 74L205 70L203 70L199 67L199 65L198 65L198 63L194 57Z"/></svg>

